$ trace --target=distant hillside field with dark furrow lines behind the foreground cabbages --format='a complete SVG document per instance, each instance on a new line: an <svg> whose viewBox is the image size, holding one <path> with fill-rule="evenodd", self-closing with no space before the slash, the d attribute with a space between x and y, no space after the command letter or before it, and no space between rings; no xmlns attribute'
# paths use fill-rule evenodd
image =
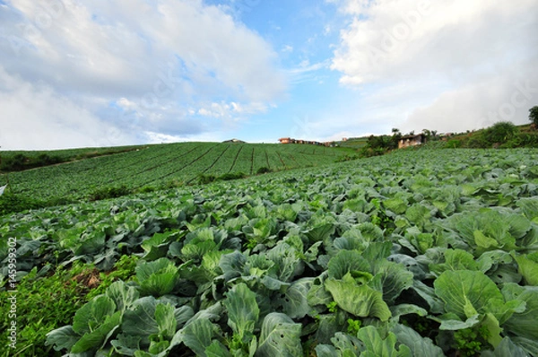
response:
<svg viewBox="0 0 538 357"><path fill-rule="evenodd" d="M123 151L123 152L122 152ZM39 152L50 156L78 157L78 161L9 173L13 194L33 199L84 198L103 187L183 186L197 183L201 175L256 175L258 170L290 170L338 161L347 152L325 146L300 144L182 143L117 149ZM11 153L13 154L13 152ZM28 152L25 153L29 155ZM6 152L2 152L3 159ZM7 176L0 175L0 185Z"/></svg>

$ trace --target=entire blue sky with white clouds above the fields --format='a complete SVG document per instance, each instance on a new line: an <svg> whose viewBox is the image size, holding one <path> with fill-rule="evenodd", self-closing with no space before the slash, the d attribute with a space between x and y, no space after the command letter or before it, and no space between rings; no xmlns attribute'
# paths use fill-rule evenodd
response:
<svg viewBox="0 0 538 357"><path fill-rule="evenodd" d="M0 0L0 146L523 124L536 19L536 0Z"/></svg>

